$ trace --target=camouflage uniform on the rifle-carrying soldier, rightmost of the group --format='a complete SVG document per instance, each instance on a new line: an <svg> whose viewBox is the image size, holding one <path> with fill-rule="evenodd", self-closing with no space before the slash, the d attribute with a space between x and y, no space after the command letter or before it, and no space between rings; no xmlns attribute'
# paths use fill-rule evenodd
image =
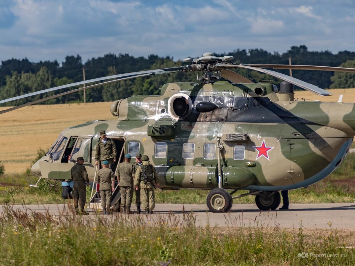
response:
<svg viewBox="0 0 355 266"><path fill-rule="evenodd" d="M146 175L153 180L153 183L157 184L158 175L157 171L155 171L155 167L149 161L142 161L142 168ZM141 189L141 202L144 210L147 212L152 211L155 207L155 195L153 185L149 182L144 184L142 168L137 168L134 185Z"/></svg>

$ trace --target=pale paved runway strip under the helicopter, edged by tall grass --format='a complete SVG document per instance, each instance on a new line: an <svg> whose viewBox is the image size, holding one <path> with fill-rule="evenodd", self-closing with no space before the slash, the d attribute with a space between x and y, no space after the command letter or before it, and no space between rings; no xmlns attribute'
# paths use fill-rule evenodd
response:
<svg viewBox="0 0 355 266"><path fill-rule="evenodd" d="M45 204L45 205L14 205L13 210L26 211L28 215L32 212L45 213L48 211L51 215L73 215L68 211L65 204ZM329 229L328 223L337 229L355 229L355 203L323 203L323 204L290 204L289 210L260 211L254 204L234 204L230 213L212 213L204 204L155 204L155 213L153 215L133 214L123 215L126 219L142 217L147 222L155 222L164 219L171 221L173 216L176 219L183 220L185 216L192 213L196 218L196 225L205 226L207 223L211 226L220 227L234 226L263 226L295 228L300 226L308 229ZM4 210L0 206L0 212ZM132 210L135 210L134 205ZM88 218L95 218L98 214L96 210L87 209L90 215ZM117 215L105 215L109 219L116 219ZM170 218L169 218L170 216Z"/></svg>

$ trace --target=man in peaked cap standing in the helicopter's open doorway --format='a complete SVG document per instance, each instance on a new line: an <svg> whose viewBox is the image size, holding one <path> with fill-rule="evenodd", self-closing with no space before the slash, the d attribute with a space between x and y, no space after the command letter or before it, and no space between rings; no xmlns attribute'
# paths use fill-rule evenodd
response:
<svg viewBox="0 0 355 266"><path fill-rule="evenodd" d="M96 144L95 165L103 161L109 162L109 169L111 169L112 162L116 162L116 145L112 139L106 137L104 130L100 131L100 138Z"/></svg>

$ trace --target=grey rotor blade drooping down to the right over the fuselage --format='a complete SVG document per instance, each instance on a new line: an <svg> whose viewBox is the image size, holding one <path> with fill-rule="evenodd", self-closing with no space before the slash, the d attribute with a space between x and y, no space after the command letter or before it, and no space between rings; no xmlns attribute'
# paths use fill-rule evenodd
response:
<svg viewBox="0 0 355 266"><path fill-rule="evenodd" d="M310 83L304 82L302 80L299 79L295 79L294 77L290 77L272 70L268 70L268 69L262 69L262 68L255 68L255 67L250 67L248 65L229 65L229 64L217 64L217 67L221 67L221 68L247 68L247 69L251 69L251 70L255 70L255 71L259 71L261 73L265 73L265 74L269 74L271 76L277 77L278 79L281 80L285 80L288 81L296 86L299 86L303 89L306 89L307 91L311 91L315 94L318 94L319 96L329 96L329 95L334 95L331 92L328 92L324 89L321 89L320 87L317 87L315 85L312 85Z"/></svg>

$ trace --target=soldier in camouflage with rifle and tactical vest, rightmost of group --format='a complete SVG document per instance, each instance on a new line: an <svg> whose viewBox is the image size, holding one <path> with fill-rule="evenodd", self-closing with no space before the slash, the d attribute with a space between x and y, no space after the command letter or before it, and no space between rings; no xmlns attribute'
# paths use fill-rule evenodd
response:
<svg viewBox="0 0 355 266"><path fill-rule="evenodd" d="M134 186L135 189L141 189L141 202L144 210L148 214L153 214L155 207L154 186L160 187L158 183L157 171L149 162L147 155L142 156L142 165L137 169Z"/></svg>

